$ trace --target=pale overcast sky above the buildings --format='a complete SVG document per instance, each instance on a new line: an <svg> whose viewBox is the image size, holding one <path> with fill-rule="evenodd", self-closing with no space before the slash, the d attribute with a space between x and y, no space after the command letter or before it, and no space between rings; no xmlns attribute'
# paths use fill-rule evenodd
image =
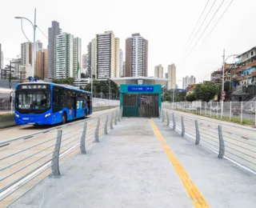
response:
<svg viewBox="0 0 256 208"><path fill-rule="evenodd" d="M82 53L95 34L113 30L120 38L125 51L125 39L132 33L140 33L149 41L149 75L154 75L154 66L162 64L166 71L168 64L177 66L177 79L194 74L197 81L210 78L210 72L221 66L223 49L226 54L240 54L256 45L254 12L255 0L234 0L221 21L208 38L210 30L229 5L224 0L218 14L198 45L186 58L184 46L208 0L8 0L1 6L0 42L5 58L20 54L21 42L26 42L20 21L14 16L33 20L37 8L37 24L48 35L51 21L60 22L64 32L82 38ZM214 0L210 0L206 13ZM216 0L213 10L198 32L196 42L213 17L222 0ZM201 25L199 22L198 27ZM32 40L33 30L28 22L23 24L26 35ZM47 47L47 39L38 31L38 40ZM204 39L206 38L206 41ZM192 46L194 46L192 44ZM7 61L7 59L5 59ZM233 58L229 59L230 62ZM181 86L181 83L180 85Z"/></svg>

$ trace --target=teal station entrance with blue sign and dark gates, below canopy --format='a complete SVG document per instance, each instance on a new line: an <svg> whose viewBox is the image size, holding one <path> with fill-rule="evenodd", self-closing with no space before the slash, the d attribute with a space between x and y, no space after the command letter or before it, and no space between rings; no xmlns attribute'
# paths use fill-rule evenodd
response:
<svg viewBox="0 0 256 208"><path fill-rule="evenodd" d="M123 117L158 118L161 107L161 85L121 85L120 106Z"/></svg>

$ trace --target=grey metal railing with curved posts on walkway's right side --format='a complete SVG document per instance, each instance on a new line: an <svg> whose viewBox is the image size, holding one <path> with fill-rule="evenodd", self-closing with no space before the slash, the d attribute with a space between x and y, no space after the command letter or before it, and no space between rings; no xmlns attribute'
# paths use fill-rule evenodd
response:
<svg viewBox="0 0 256 208"><path fill-rule="evenodd" d="M218 158L227 158L256 174L256 129L236 124L213 122L207 118L198 118L176 110L160 110L160 119L195 140L196 145L206 146L218 154Z"/></svg>

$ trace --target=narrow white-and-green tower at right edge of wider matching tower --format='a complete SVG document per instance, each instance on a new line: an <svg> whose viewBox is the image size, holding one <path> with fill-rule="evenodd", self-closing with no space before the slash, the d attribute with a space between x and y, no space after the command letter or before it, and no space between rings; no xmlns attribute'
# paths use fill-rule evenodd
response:
<svg viewBox="0 0 256 208"><path fill-rule="evenodd" d="M74 38L73 43L73 74L74 78L81 77L81 50L82 50L82 40L81 38Z"/></svg>

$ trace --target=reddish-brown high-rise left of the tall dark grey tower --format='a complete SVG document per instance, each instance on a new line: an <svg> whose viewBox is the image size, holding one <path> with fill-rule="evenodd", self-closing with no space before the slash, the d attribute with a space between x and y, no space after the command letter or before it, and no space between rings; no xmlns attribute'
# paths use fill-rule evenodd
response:
<svg viewBox="0 0 256 208"><path fill-rule="evenodd" d="M38 50L36 57L35 75L44 80L48 78L48 50Z"/></svg>

